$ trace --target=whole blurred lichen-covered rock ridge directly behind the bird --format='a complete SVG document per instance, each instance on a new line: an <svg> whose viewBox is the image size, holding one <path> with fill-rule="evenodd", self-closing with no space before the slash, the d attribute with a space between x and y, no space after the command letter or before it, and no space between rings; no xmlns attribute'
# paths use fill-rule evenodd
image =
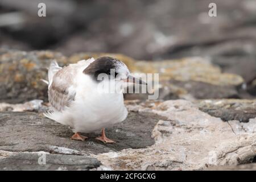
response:
<svg viewBox="0 0 256 182"><path fill-rule="evenodd" d="M90 57L113 56L122 60L132 73L159 73L159 99L187 100L204 98L253 97L241 94L244 80L233 73L222 73L220 67L202 57L188 57L160 62L135 61L130 57L110 53L77 53L70 57L52 51L0 50L0 101L20 103L33 99L47 101L47 67L55 59L61 65L76 63ZM126 99L147 99L147 94L126 94Z"/></svg>

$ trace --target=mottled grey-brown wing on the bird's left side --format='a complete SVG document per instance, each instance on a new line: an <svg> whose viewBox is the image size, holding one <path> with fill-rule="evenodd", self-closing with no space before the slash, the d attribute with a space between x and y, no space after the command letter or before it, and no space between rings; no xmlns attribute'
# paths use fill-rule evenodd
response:
<svg viewBox="0 0 256 182"><path fill-rule="evenodd" d="M76 85L73 81L75 76L76 72L71 66L60 69L53 76L52 83L48 89L48 98L50 104L56 110L64 110L75 100Z"/></svg>

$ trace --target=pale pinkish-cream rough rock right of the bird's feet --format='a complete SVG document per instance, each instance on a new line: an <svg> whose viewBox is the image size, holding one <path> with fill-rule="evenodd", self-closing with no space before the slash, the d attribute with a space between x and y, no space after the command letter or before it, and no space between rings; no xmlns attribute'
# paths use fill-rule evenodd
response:
<svg viewBox="0 0 256 182"><path fill-rule="evenodd" d="M150 108L150 109L149 109ZM150 111L166 117L152 137L155 144L93 155L111 169L203 170L208 167L250 163L256 155L256 133L234 133L237 121L223 122L184 100L129 106L129 110ZM233 127L230 126L233 122ZM255 120L251 125L256 125Z"/></svg>

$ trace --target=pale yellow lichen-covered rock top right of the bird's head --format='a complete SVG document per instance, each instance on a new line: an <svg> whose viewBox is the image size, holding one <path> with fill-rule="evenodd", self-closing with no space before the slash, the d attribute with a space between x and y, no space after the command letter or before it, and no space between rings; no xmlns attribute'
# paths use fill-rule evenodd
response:
<svg viewBox="0 0 256 182"><path fill-rule="evenodd" d="M221 73L219 67L201 57L158 62L137 61L135 70L143 73L159 73L160 80L201 81L213 85L241 85L243 78L231 73Z"/></svg>

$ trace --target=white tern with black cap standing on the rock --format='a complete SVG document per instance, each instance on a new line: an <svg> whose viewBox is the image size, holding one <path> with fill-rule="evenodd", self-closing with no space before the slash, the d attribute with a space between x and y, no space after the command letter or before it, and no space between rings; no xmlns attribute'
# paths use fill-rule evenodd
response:
<svg viewBox="0 0 256 182"><path fill-rule="evenodd" d="M118 88L118 92L106 92L104 86L112 86L109 84L110 78L114 78L113 87ZM75 133L71 139L74 140L88 138L81 133L101 130L101 136L96 139L104 143L115 143L106 137L105 128L124 121L128 114L124 105L123 85L147 85L131 76L122 61L109 56L92 57L63 68L53 60L48 68L48 81L43 81L48 84L50 104L50 109L44 115L71 126Z"/></svg>

